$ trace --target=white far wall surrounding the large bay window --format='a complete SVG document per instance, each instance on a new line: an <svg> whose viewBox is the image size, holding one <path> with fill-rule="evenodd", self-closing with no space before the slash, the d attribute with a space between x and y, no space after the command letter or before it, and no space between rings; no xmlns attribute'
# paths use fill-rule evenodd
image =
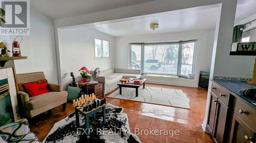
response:
<svg viewBox="0 0 256 143"><path fill-rule="evenodd" d="M129 43L179 41L194 39L198 40L195 79L164 78L149 76L147 76L146 78L148 79L147 82L198 87L199 72L210 71L212 47L214 44L214 30L142 36L127 36L116 38L115 67L125 69L129 68Z"/></svg>

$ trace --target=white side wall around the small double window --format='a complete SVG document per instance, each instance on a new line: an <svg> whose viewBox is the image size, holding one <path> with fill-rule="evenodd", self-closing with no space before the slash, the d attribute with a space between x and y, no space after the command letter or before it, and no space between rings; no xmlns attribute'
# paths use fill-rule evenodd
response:
<svg viewBox="0 0 256 143"><path fill-rule="evenodd" d="M110 58L94 58L95 37L110 41ZM114 37L96 32L90 28L80 27L58 29L58 39L61 84L64 90L67 89L68 83L72 81L70 72L74 72L75 77L80 77L78 70L83 66L90 70L97 67L100 70L114 68Z"/></svg>

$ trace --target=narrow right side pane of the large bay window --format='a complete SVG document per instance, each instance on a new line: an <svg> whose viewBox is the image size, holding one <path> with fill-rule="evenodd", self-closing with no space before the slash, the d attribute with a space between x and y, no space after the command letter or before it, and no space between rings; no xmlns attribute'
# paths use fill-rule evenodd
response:
<svg viewBox="0 0 256 143"><path fill-rule="evenodd" d="M195 42L184 43L181 47L181 75L192 74Z"/></svg>

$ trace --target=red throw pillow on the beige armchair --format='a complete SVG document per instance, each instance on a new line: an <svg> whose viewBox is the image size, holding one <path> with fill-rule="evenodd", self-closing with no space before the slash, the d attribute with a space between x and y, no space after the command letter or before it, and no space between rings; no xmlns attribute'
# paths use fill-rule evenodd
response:
<svg viewBox="0 0 256 143"><path fill-rule="evenodd" d="M24 87L30 97L48 93L47 82L42 83L24 83Z"/></svg>

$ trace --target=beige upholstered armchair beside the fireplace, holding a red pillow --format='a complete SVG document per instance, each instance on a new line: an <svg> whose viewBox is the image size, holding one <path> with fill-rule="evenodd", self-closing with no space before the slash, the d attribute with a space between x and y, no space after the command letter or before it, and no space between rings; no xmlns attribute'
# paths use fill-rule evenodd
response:
<svg viewBox="0 0 256 143"><path fill-rule="evenodd" d="M60 84L48 83L48 90L50 92L38 96L30 97L28 93L22 91L20 84L35 82L39 80L46 80L44 72L34 72L26 74L17 74L17 82L19 84L20 102L23 109L23 117L33 118L40 113L46 112L62 105L63 110L66 109L67 91L61 91Z"/></svg>

